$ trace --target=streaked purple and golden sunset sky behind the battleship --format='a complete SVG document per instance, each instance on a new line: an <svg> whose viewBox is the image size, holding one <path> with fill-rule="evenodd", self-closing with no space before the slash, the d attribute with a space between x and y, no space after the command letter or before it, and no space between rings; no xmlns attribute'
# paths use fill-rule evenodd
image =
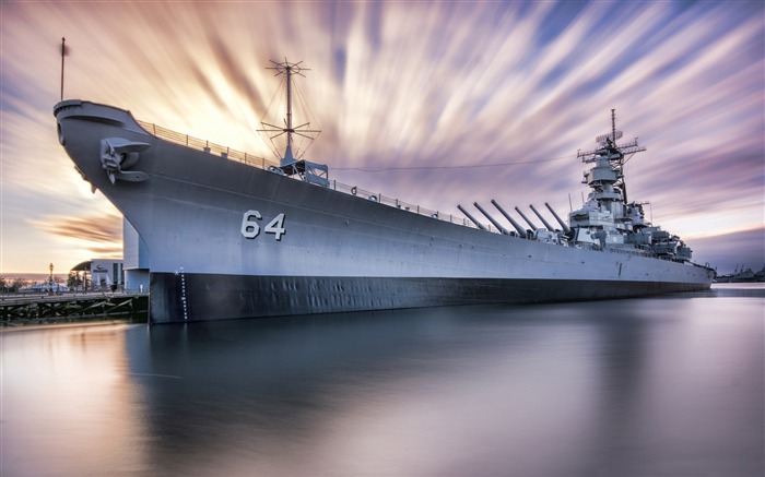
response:
<svg viewBox="0 0 765 477"><path fill-rule="evenodd" d="M0 275L121 257L119 212L56 134L63 97L274 159L256 132L280 79L330 178L460 215L581 205L578 150L647 151L629 200L719 273L765 265L765 8L711 2L0 3ZM491 207L490 207L491 208ZM497 216L497 218L502 218ZM549 217L551 218L551 217Z"/></svg>

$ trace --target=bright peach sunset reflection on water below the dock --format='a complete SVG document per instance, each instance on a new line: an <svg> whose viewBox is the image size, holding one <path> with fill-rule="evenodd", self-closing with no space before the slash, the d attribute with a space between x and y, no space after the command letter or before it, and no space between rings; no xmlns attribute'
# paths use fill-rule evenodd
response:
<svg viewBox="0 0 765 477"><path fill-rule="evenodd" d="M127 330L62 325L0 335L1 475L145 468Z"/></svg>

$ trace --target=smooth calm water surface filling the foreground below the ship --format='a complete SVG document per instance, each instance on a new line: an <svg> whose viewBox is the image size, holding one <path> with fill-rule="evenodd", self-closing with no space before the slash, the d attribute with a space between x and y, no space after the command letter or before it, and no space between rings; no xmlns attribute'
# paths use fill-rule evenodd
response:
<svg viewBox="0 0 765 477"><path fill-rule="evenodd" d="M2 333L2 476L765 474L765 288Z"/></svg>

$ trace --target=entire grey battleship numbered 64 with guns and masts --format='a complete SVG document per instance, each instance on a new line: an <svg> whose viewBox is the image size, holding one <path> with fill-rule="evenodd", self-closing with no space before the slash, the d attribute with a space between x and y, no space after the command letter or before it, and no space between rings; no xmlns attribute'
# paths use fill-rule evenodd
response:
<svg viewBox="0 0 765 477"><path fill-rule="evenodd" d="M295 126L292 110L304 68L272 63L286 88L284 126L263 122L286 139L273 163L117 107L54 107L76 170L137 235L152 324L625 298L702 290L715 277L646 218L644 203L627 201L624 163L645 148L617 143L613 110L611 131L577 153L591 192L567 224L546 203L555 226L539 208L542 225L496 200L493 214L473 204L482 222L461 205L464 217L349 187L295 154L310 128Z"/></svg>

